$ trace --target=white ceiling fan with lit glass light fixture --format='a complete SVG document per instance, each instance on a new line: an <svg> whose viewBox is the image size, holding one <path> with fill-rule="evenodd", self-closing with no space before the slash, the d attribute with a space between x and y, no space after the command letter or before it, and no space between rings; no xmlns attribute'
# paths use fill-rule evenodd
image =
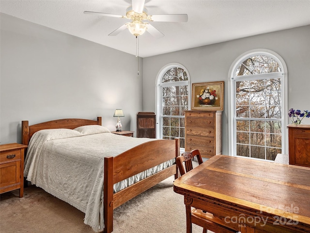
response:
<svg viewBox="0 0 310 233"><path fill-rule="evenodd" d="M148 20L150 22L187 22L186 14L176 14L176 15L148 15L147 10L144 8L145 0L132 0L132 6L128 7L126 10L126 15L113 15L100 12L84 11L84 14L92 14L99 16L108 16L108 17L118 17L130 19L131 22L125 23L109 35L117 35L118 33L124 31L128 28L129 32L138 37L147 31L155 38L164 36L163 33L159 32L154 26L148 22L143 22L142 20Z"/></svg>

